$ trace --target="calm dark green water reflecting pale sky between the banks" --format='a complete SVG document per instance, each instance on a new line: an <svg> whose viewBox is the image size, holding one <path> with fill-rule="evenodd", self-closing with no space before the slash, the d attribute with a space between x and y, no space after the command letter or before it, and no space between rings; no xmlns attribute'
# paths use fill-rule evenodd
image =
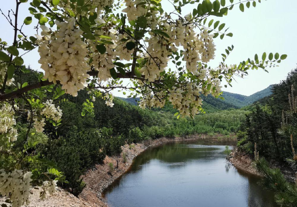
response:
<svg viewBox="0 0 297 207"><path fill-rule="evenodd" d="M274 207L259 178L228 165L225 146L195 142L149 148L106 191L110 207Z"/></svg>

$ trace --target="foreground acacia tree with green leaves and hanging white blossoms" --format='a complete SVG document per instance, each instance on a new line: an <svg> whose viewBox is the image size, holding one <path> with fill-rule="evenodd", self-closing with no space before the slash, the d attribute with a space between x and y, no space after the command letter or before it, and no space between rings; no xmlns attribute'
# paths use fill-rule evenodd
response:
<svg viewBox="0 0 297 207"><path fill-rule="evenodd" d="M67 182L51 162L32 157L30 152L38 142L28 140L30 133L45 132L49 123L53 132L61 127L63 112L58 105L68 101L62 98L65 93L75 97L80 90L88 91L82 93L85 122L89 120L86 115L94 113L96 98L113 107L114 89L140 97L141 108L170 103L177 118L193 118L203 112L202 96L220 97L222 80L231 86L234 76L243 77L249 69L275 67L287 57L264 52L227 65L231 45L220 64L211 68L207 64L215 57L214 39L233 36L225 23L212 17L228 15L235 7L244 12L256 7L256 1L169 2L171 8L163 8L159 0L15 0L14 10L0 10L2 21L14 30L12 45L0 40L0 112L7 115L0 122L0 149L6 158L0 171L0 192L10 196L12 206L28 201L34 181L43 181L44 193L53 193L58 180ZM20 20L24 4L30 4L28 16ZM194 9L187 13L184 8L189 5ZM32 26L35 37L23 32L33 19L38 22ZM23 65L23 55L35 48L43 70L37 76ZM23 81L22 77L30 75L37 82ZM29 122L28 141L18 153L10 151L17 136L13 133L14 113L26 115ZM30 131L32 127L35 132ZM38 167L26 170L32 163Z"/></svg>

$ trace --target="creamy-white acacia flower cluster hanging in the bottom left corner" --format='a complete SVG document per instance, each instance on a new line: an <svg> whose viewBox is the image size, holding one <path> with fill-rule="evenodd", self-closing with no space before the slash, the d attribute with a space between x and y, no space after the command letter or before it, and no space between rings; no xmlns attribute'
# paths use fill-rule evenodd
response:
<svg viewBox="0 0 297 207"><path fill-rule="evenodd" d="M0 170L0 194L9 196L12 207L20 207L24 203L29 203L29 195L32 189L30 182L32 172L23 170L13 170L5 172Z"/></svg>

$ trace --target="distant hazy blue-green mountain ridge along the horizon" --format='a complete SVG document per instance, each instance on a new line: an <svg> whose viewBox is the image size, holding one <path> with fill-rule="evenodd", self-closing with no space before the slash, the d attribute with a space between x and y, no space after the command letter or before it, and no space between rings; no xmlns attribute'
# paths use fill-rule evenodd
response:
<svg viewBox="0 0 297 207"><path fill-rule="evenodd" d="M256 102L259 99L262 99L266 96L271 95L271 88L273 85L268 86L266 89L258 91L250 96L245 96L241 94L234 94L227 91L223 91L222 97L223 99L216 99L213 96L202 96L203 99L203 107L206 111L217 111L217 110L225 110L230 108L242 108L244 106L250 105ZM139 98L123 98L118 97L132 105L138 105Z"/></svg>

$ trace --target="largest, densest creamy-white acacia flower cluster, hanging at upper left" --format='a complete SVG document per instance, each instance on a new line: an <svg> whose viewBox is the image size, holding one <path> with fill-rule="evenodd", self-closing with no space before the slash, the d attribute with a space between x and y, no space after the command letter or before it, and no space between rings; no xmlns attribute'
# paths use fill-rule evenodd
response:
<svg viewBox="0 0 297 207"><path fill-rule="evenodd" d="M77 96L77 92L87 86L86 78L89 78L87 44L80 39L83 31L74 27L75 18L55 23L59 27L57 32L51 35L50 29L41 26L42 36L37 35L38 62L45 71L44 78L55 84L59 80L66 93Z"/></svg>

